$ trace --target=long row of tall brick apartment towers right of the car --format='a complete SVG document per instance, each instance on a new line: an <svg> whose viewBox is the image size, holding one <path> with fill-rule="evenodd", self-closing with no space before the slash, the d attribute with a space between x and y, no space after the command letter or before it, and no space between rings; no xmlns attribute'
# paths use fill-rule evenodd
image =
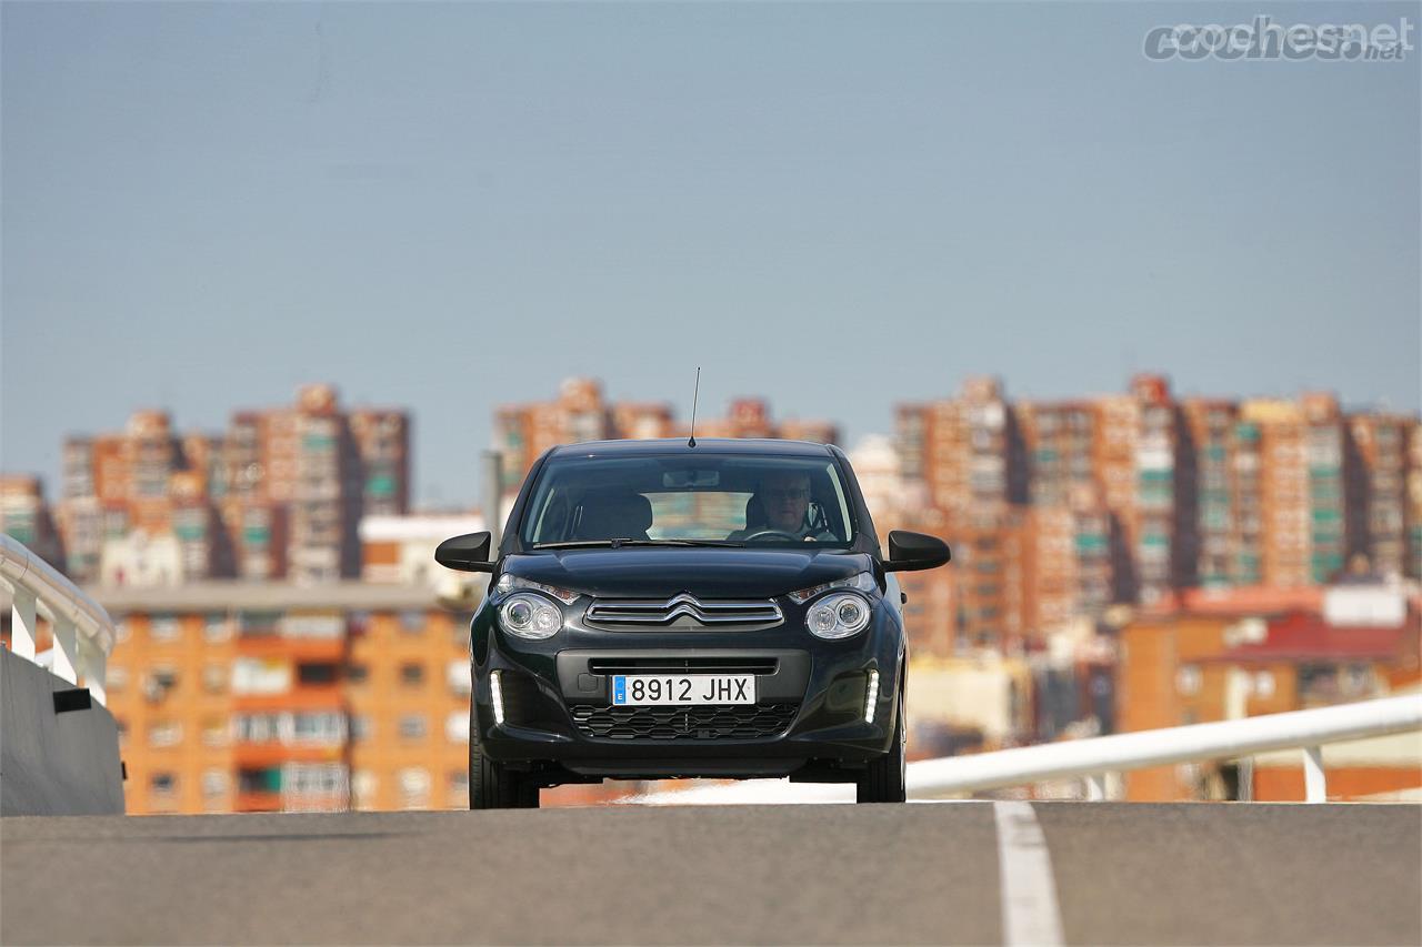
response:
<svg viewBox="0 0 1422 947"><path fill-rule="evenodd" d="M1415 417L1348 414L1320 392L1177 400L1136 375L1125 394L1020 402L971 380L897 405L894 425L903 488L941 510L956 547L983 542L961 510L1031 512L997 518L1030 530L1028 637L1180 589L1314 586L1358 563L1422 574Z"/></svg>

